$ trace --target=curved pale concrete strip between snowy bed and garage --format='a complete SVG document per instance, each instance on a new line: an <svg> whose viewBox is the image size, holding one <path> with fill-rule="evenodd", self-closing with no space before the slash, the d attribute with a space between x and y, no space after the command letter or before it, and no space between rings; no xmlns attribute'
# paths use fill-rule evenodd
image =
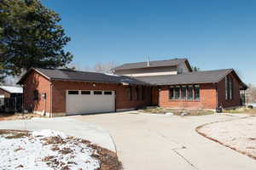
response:
<svg viewBox="0 0 256 170"><path fill-rule="evenodd" d="M69 117L40 118L20 121L0 122L0 129L40 130L52 129L68 135L90 140L108 150L116 151L109 133L93 122L81 122Z"/></svg>

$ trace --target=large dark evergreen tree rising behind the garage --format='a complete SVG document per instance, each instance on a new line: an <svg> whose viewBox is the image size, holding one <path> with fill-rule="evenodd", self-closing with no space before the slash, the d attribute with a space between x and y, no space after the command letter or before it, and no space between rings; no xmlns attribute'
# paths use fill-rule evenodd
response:
<svg viewBox="0 0 256 170"><path fill-rule="evenodd" d="M73 55L63 49L70 37L60 20L39 0L0 0L0 77L70 63Z"/></svg>

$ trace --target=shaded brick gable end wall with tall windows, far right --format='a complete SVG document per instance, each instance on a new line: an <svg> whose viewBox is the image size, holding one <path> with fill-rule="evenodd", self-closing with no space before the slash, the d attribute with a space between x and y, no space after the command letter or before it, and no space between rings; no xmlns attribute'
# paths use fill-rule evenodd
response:
<svg viewBox="0 0 256 170"><path fill-rule="evenodd" d="M225 79L218 82L218 105L222 105L223 108L236 107L241 105L240 98L240 83L236 79L233 73L230 73L233 77L233 99L225 99Z"/></svg>

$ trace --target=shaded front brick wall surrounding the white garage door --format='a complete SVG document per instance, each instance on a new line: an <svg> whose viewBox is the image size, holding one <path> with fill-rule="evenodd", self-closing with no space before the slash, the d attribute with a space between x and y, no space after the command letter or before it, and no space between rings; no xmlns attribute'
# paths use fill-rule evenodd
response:
<svg viewBox="0 0 256 170"><path fill-rule="evenodd" d="M117 84L95 83L92 82L69 82L54 81L53 82L53 113L66 112L66 93L67 90L115 90L116 91L116 109L137 108L150 103L150 98L145 100L135 99L135 87L133 87L133 99L127 99L125 86ZM147 93L148 94L148 93Z"/></svg>

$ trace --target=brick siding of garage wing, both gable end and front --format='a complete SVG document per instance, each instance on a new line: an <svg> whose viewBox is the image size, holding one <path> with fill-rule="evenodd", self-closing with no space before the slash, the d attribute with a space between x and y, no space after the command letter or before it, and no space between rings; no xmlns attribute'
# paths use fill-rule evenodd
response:
<svg viewBox="0 0 256 170"><path fill-rule="evenodd" d="M52 92L51 92L52 83ZM26 81L24 82L24 109L27 111L53 113L53 116L59 113L66 113L66 91L67 90L111 90L116 92L116 109L136 109L151 103L151 99L148 97L149 87L145 93L145 99L135 99L135 86L132 87L133 99L129 100L126 95L125 88L118 84L111 83L95 83L96 86L92 85L92 82L71 82L71 81L53 81L49 80L37 71L32 71ZM33 92L38 89L39 99L33 99ZM42 94L46 94L46 101L44 101ZM51 106L51 93L52 93L52 106ZM63 115L63 114L62 114Z"/></svg>

